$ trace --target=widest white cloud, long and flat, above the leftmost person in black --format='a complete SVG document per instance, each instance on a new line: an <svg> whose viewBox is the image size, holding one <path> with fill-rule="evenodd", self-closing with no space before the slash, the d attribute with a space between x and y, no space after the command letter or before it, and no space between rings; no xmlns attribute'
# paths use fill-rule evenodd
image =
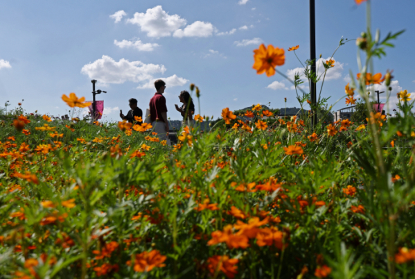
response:
<svg viewBox="0 0 415 279"><path fill-rule="evenodd" d="M164 71L166 71L164 65L144 64L141 61L130 62L124 58L116 62L109 56L103 56L81 69L82 74L105 84L125 83L125 81L138 83L151 79L153 74L163 74Z"/></svg>

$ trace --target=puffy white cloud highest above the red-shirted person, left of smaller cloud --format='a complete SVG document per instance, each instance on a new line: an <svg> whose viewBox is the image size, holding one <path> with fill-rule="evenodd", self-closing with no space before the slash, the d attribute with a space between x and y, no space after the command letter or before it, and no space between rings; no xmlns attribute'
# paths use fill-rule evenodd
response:
<svg viewBox="0 0 415 279"><path fill-rule="evenodd" d="M136 24L148 37L166 37L186 25L186 19L179 15L168 15L161 6L155 6L144 12L136 12L132 19L127 19L130 24Z"/></svg>

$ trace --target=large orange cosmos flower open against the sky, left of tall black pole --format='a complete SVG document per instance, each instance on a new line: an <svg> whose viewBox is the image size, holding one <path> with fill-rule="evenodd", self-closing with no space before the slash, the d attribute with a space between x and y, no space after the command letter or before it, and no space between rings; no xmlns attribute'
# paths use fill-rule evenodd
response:
<svg viewBox="0 0 415 279"><path fill-rule="evenodd" d="M284 49L274 48L271 44L265 49L265 44L261 44L259 49L254 50L254 65L256 74L266 72L267 76L275 74L275 67L285 63Z"/></svg>

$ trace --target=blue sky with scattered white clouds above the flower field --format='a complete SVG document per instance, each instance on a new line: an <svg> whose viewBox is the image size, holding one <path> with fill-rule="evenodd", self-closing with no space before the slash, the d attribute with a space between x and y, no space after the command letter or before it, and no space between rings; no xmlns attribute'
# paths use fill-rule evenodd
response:
<svg viewBox="0 0 415 279"><path fill-rule="evenodd" d="M381 35L406 29L375 71L393 69L392 93L415 92L415 1L373 0L372 27ZM261 42L285 49L299 44L309 54L306 0L228 1L3 1L0 10L0 107L24 99L27 112L67 114L62 94L91 99L91 79L105 101L105 119L136 98L148 108L156 78L167 81L168 117L181 90L195 83L201 90L201 114L220 116L222 108L271 102L272 108L299 107L290 83L281 76L257 75L253 50ZM316 0L317 57L331 56L343 36L355 39L365 28L365 5L353 0ZM357 47L349 42L335 55L322 96L335 103L344 96L348 71L357 72ZM301 67L285 52L285 74ZM380 88L382 90L382 88ZM414 96L414 95L412 95ZM396 103L396 97L392 102ZM344 108L344 99L335 109ZM198 112L198 111L197 111Z"/></svg>

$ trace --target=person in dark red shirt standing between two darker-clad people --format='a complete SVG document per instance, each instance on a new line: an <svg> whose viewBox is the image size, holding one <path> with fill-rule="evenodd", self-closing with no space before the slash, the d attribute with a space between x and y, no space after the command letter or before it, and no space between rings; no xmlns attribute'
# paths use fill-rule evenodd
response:
<svg viewBox="0 0 415 279"><path fill-rule="evenodd" d="M167 140L168 135L168 120L167 120L167 106L166 98L164 98L163 93L166 89L166 83L158 79L154 81L154 87L156 87L157 92L150 99L150 119L152 126L154 127L154 132L157 133L157 137L160 140Z"/></svg>

